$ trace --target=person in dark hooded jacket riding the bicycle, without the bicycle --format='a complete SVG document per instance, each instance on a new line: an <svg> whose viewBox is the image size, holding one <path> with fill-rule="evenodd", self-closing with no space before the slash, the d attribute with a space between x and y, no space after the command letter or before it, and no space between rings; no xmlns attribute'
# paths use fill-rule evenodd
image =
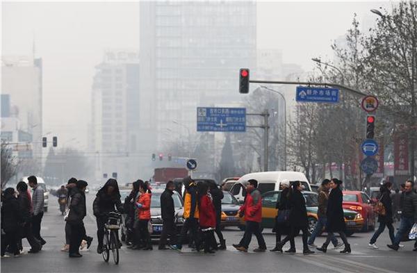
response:
<svg viewBox="0 0 417 273"><path fill-rule="evenodd" d="M120 213L123 212L122 202L120 201L119 185L115 179L108 179L106 184L97 192L92 210L97 221L97 239L99 245L97 246L97 253L103 252L103 239L105 231L105 224L108 222L109 213L115 210ZM117 234L117 233L116 233ZM121 247L119 236L117 234L117 245Z"/></svg>

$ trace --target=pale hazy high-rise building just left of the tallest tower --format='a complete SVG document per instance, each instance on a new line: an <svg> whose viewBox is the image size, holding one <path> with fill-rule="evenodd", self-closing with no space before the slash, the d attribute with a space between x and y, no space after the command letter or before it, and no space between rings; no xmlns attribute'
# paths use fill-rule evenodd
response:
<svg viewBox="0 0 417 273"><path fill-rule="evenodd" d="M138 177L140 169L136 166L143 155L138 143L139 55L107 51L95 69L89 147L96 153L96 179L113 172L124 181L133 179Z"/></svg>

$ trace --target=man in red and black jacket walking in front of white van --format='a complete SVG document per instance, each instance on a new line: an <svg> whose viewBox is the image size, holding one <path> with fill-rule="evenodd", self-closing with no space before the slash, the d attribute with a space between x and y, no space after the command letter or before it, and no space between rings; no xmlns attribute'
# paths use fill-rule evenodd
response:
<svg viewBox="0 0 417 273"><path fill-rule="evenodd" d="M238 245L233 245L239 251L247 252L250 241L252 240L252 234L255 234L256 239L258 240L259 247L254 249L254 252L265 252L266 245L265 240L263 240L263 235L261 233L261 220L262 220L262 201L261 201L261 192L259 192L258 181L250 179L247 181L249 184L246 185L246 199L245 204L240 207L240 215L245 215L246 229L245 234L243 235L242 240L240 240Z"/></svg>

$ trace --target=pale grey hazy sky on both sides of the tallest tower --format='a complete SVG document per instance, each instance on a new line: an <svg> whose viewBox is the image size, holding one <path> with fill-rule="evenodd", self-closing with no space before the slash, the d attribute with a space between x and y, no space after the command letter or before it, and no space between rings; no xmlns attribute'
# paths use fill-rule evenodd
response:
<svg viewBox="0 0 417 273"><path fill-rule="evenodd" d="M117 1L1 3L1 53L31 56L35 40L35 56L43 59L44 133L58 135L61 147L85 149L95 65L106 49L139 50L139 6ZM311 57L332 59L330 45L350 28L354 13L372 25L376 15L369 10L379 6L389 8L391 2L259 2L257 46L280 49L284 63L308 71L314 66ZM73 138L79 142L67 142Z"/></svg>

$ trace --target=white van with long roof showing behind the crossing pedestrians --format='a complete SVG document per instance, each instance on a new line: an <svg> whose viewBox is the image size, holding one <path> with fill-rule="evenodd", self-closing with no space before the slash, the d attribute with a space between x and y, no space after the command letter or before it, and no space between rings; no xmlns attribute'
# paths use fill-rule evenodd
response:
<svg viewBox="0 0 417 273"><path fill-rule="evenodd" d="M240 203L243 202L246 195L245 186L243 184L250 179L258 181L258 190L261 194L270 192L271 190L279 190L279 185L284 179L290 182L300 181L304 190L311 192L310 183L302 172L254 172L240 177L230 190L231 194L234 195Z"/></svg>

